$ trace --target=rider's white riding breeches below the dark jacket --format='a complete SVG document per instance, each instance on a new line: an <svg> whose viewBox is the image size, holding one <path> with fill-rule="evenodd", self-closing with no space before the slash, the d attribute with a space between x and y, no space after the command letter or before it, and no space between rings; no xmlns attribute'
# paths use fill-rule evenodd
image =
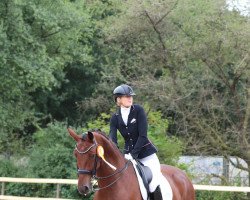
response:
<svg viewBox="0 0 250 200"><path fill-rule="evenodd" d="M160 185L160 180L163 176L161 173L160 161L155 153L138 160L151 169L153 177L151 183L149 184L149 191L154 192L156 187Z"/></svg>

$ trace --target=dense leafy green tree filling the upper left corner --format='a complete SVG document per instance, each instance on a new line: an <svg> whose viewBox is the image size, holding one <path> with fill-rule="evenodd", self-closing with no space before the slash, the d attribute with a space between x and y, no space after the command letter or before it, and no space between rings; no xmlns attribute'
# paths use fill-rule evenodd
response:
<svg viewBox="0 0 250 200"><path fill-rule="evenodd" d="M91 62L89 47L79 41L91 34L83 34L89 26L83 8L80 1L1 1L0 151L7 157L15 152L13 141L49 115L38 109L44 100L38 94L50 94L66 81L64 69L73 60Z"/></svg>

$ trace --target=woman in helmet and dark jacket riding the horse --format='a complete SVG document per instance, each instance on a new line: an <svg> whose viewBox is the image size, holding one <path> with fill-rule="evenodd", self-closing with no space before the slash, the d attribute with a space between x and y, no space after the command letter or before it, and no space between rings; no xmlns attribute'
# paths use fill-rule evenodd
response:
<svg viewBox="0 0 250 200"><path fill-rule="evenodd" d="M114 99L119 107L110 120L110 138L117 144L117 130L125 140L124 153L130 153L134 159L148 166L153 174L149 184L150 198L162 200L160 189L161 168L156 155L157 149L147 137L147 117L144 109L133 104L133 89L126 84L116 87Z"/></svg>

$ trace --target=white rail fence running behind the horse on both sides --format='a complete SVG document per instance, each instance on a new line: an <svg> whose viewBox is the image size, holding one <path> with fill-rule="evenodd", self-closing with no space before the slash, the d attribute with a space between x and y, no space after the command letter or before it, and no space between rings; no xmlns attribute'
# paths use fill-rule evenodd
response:
<svg viewBox="0 0 250 200"><path fill-rule="evenodd" d="M37 178L10 178L0 177L1 195L0 200L52 200L60 199L60 186L61 185L76 185L75 179L37 179ZM39 197L15 197L5 196L5 183L42 183L42 184L56 184L56 197L55 198L39 198ZM195 190L206 191L224 191L224 192L250 192L250 187L236 187L236 186L212 186L212 185L194 185ZM66 199L60 199L66 200ZM68 200L68 199L67 199Z"/></svg>

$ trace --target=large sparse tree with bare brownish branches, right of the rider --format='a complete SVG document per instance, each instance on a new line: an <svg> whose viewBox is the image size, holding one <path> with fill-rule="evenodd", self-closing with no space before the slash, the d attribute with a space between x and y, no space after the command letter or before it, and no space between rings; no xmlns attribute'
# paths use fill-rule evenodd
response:
<svg viewBox="0 0 250 200"><path fill-rule="evenodd" d="M140 101L169 117L170 134L185 138L189 154L250 166L249 17L213 0L130 0L120 9L107 22L117 59L103 82L135 86Z"/></svg>

